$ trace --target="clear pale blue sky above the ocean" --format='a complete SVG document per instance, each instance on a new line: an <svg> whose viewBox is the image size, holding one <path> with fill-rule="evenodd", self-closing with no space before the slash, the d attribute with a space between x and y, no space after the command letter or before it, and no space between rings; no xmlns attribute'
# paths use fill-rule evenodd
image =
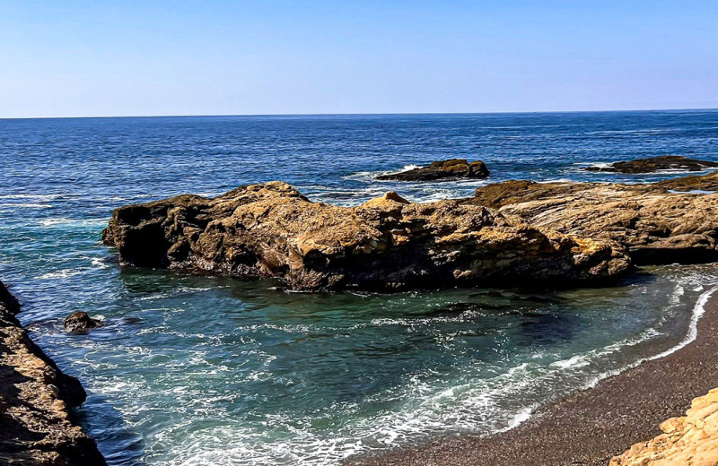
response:
<svg viewBox="0 0 718 466"><path fill-rule="evenodd" d="M718 1L0 0L0 117L718 108Z"/></svg>

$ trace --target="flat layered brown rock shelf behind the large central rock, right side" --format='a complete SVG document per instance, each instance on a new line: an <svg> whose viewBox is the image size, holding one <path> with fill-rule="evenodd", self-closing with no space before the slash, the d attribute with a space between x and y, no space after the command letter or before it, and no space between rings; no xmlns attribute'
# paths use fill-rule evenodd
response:
<svg viewBox="0 0 718 466"><path fill-rule="evenodd" d="M614 241L635 263L718 259L718 173L646 185L507 181L477 188L466 203L533 225Z"/></svg>

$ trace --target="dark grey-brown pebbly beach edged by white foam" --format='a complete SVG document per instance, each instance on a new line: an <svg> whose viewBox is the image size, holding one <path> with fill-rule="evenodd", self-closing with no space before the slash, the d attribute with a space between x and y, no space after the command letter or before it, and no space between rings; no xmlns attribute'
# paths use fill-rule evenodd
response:
<svg viewBox="0 0 718 466"><path fill-rule="evenodd" d="M676 346L539 407L515 427L360 453L344 464L607 466L633 444L661 435L661 422L683 416L694 398L718 385L716 290L698 298L687 336Z"/></svg>

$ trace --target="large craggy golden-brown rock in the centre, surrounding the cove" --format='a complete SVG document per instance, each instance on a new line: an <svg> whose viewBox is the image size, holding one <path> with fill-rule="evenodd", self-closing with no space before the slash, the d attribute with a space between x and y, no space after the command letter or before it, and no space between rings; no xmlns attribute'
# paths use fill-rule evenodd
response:
<svg viewBox="0 0 718 466"><path fill-rule="evenodd" d="M596 282L626 272L608 242L460 201L396 193L356 207L312 203L282 182L214 199L180 195L114 211L103 241L120 263L276 277L292 289L416 289Z"/></svg>

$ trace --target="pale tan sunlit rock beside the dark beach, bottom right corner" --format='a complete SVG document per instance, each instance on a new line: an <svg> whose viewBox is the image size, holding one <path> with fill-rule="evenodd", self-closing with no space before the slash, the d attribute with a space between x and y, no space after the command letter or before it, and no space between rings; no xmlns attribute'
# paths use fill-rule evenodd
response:
<svg viewBox="0 0 718 466"><path fill-rule="evenodd" d="M663 434L635 444L609 466L715 466L718 464L718 388L693 400L686 416L661 423Z"/></svg>

